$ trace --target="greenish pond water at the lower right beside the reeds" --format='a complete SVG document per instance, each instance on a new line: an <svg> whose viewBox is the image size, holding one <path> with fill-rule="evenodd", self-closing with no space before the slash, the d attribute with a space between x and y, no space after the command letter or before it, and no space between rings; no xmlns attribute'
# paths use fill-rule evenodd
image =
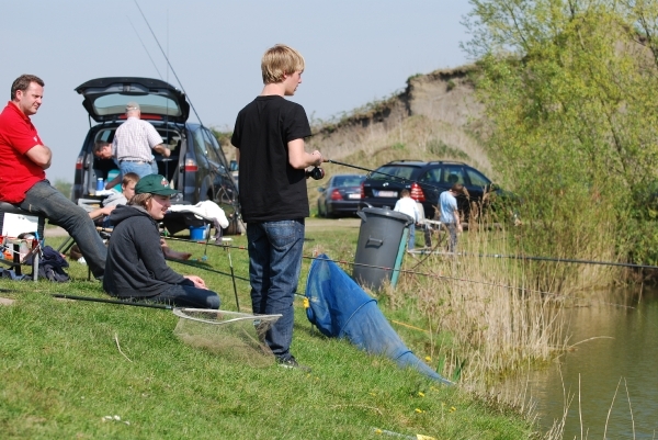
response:
<svg viewBox="0 0 658 440"><path fill-rule="evenodd" d="M594 295L568 311L574 350L531 373L541 424L561 419L567 393L565 439L603 439L606 425L608 439L658 439L658 291Z"/></svg>

